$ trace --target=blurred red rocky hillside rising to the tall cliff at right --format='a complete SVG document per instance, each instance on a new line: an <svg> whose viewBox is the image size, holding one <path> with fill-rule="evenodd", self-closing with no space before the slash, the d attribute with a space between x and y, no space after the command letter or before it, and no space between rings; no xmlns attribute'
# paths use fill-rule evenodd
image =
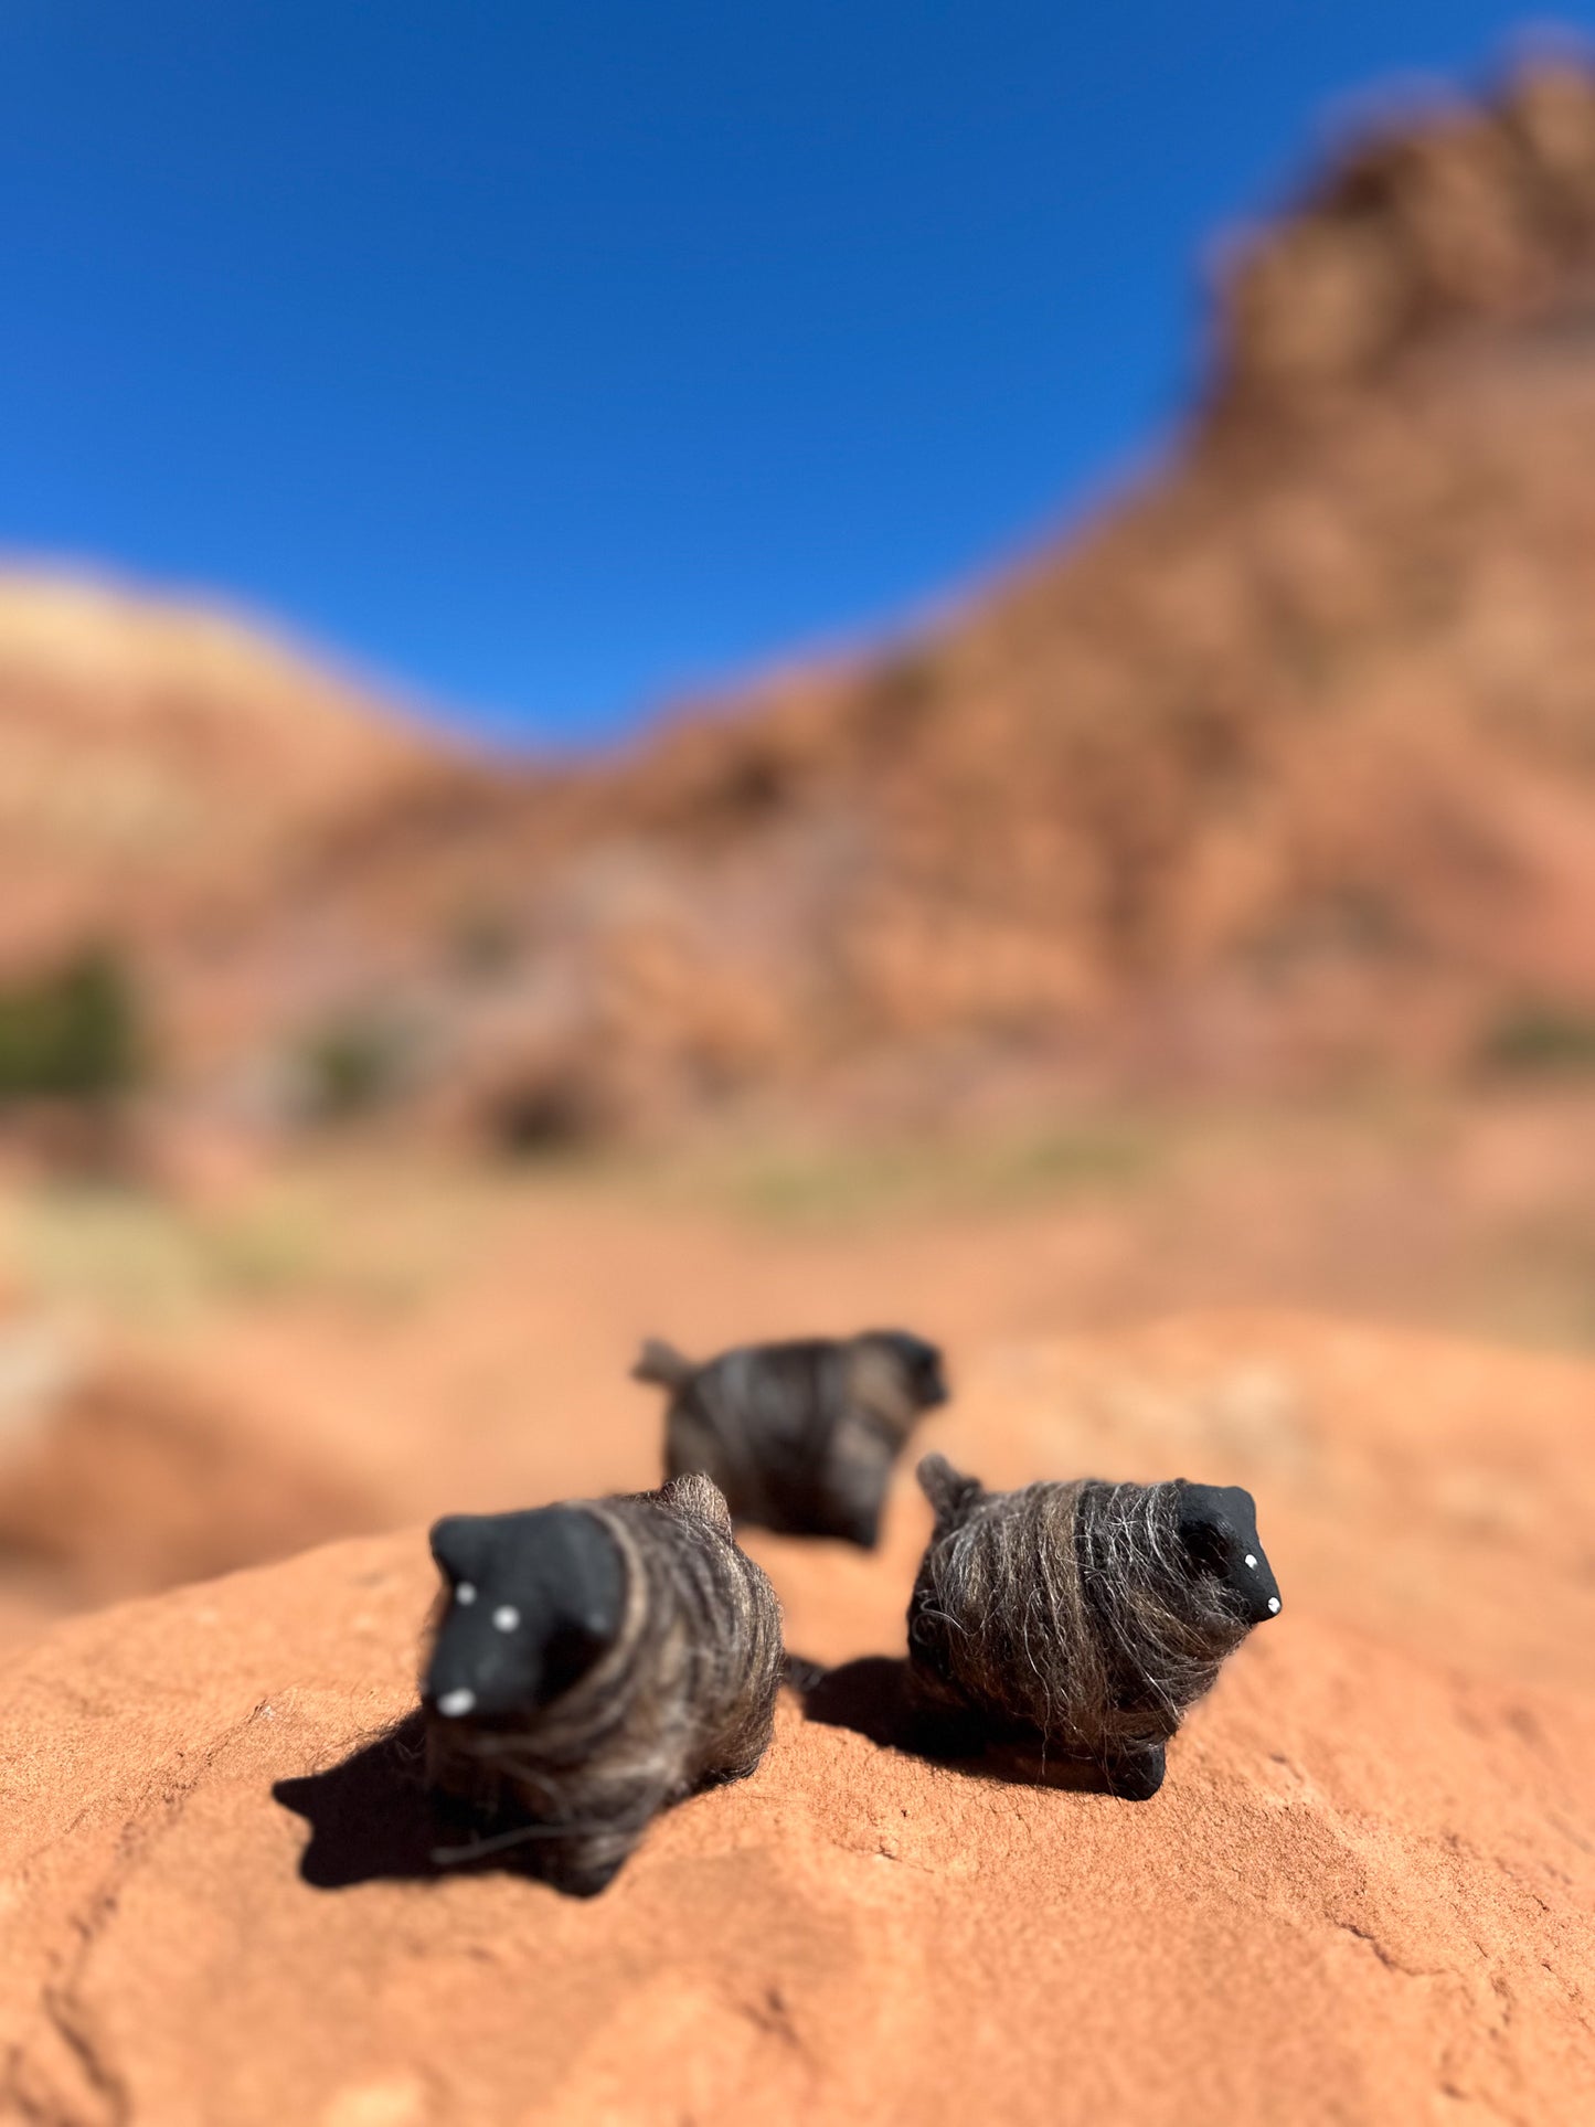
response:
<svg viewBox="0 0 1595 2127"><path fill-rule="evenodd" d="M242 842L253 898L149 953L172 1068L287 1115L353 1044L362 1100L536 1140L1586 1038L1595 77L1348 149L1214 340L1168 462L921 638Z"/></svg>

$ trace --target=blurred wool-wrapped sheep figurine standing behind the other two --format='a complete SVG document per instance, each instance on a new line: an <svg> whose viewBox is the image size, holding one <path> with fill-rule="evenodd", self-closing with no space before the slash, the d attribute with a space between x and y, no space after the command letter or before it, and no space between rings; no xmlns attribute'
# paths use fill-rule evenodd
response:
<svg viewBox="0 0 1595 2127"><path fill-rule="evenodd" d="M632 1376L670 1391L668 1476L702 1470L736 1521L866 1551L908 1434L946 1402L940 1351L906 1329L742 1344L704 1366L651 1338Z"/></svg>

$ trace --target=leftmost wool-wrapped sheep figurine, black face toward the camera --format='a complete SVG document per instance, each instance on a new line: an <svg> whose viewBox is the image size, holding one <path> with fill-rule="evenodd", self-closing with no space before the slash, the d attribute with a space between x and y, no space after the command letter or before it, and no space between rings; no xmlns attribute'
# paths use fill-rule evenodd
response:
<svg viewBox="0 0 1595 2127"><path fill-rule="evenodd" d="M453 1859L527 1844L602 1891L672 1802L751 1774L780 1682L780 1606L706 1476L432 1529L427 1785L476 1819Z"/></svg>

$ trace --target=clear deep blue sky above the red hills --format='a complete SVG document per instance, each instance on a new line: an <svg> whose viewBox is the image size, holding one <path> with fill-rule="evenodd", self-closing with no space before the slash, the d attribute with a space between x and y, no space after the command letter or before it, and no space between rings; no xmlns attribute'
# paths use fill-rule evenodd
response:
<svg viewBox="0 0 1595 2127"><path fill-rule="evenodd" d="M1068 521L1178 415L1212 236L1518 21L2 0L0 547L612 734Z"/></svg>

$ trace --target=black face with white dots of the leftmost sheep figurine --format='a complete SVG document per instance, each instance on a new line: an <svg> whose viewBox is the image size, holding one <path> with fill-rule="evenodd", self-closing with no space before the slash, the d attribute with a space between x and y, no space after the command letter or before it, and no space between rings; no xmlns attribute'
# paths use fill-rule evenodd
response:
<svg viewBox="0 0 1595 2127"><path fill-rule="evenodd" d="M444 1580L423 1687L444 1721L517 1719L566 1693L615 1644L625 1565L574 1506L451 1514L432 1529Z"/></svg>

